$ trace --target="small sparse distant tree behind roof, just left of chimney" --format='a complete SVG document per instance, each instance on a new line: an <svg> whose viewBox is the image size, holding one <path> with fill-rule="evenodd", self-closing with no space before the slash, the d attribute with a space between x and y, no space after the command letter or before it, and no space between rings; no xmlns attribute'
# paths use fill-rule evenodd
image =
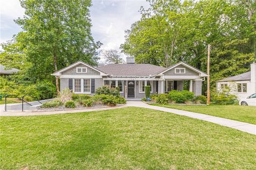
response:
<svg viewBox="0 0 256 170"><path fill-rule="evenodd" d="M100 54L106 59L108 63L123 63L120 53L117 50L101 50Z"/></svg>

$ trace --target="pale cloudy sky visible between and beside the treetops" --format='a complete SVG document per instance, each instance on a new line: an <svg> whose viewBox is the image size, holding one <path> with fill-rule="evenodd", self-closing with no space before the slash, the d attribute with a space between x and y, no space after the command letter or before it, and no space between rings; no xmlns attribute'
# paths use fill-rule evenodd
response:
<svg viewBox="0 0 256 170"><path fill-rule="evenodd" d="M147 8L149 4L146 0L92 1L92 36L95 42L103 43L100 50L119 51L120 45L124 43L124 31L141 18L140 6ZM0 43L11 40L14 34L21 31L13 20L22 18L24 11L19 0L0 0ZM122 54L122 57L125 58L125 55ZM103 59L100 61L103 62Z"/></svg>

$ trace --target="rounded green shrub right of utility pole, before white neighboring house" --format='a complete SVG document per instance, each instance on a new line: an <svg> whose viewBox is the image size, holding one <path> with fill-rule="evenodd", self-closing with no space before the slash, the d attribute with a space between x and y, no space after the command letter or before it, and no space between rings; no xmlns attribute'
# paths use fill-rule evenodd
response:
<svg viewBox="0 0 256 170"><path fill-rule="evenodd" d="M213 94L212 103L228 105L228 104L238 104L237 96L231 95L225 92Z"/></svg>

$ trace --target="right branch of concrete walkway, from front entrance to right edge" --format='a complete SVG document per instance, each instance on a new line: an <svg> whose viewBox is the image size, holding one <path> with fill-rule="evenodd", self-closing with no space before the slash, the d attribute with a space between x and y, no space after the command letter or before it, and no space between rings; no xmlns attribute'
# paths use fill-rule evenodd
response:
<svg viewBox="0 0 256 170"><path fill-rule="evenodd" d="M256 125L244 123L244 122L238 122L236 120L230 120L230 119L225 119L225 118L210 116L210 115L205 115L205 114L198 114L198 113L191 112L191 111L151 106L151 105L146 104L141 101L136 101L136 102L129 101L129 102L127 102L126 106L140 107L140 108L147 108L147 109L154 109L154 110L170 112L170 113L177 114L177 115L182 115L182 116L187 116L187 117L196 118L196 119L200 119L200 120L205 120L207 122L235 128L235 129L238 129L239 131L243 131L243 132L247 132L247 133L256 135Z"/></svg>

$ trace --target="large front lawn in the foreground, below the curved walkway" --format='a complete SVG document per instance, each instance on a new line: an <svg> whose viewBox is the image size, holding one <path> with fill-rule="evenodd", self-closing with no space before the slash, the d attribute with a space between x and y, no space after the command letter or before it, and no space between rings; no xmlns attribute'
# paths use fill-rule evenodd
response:
<svg viewBox="0 0 256 170"><path fill-rule="evenodd" d="M145 108L1 117L0 169L255 169L256 136Z"/></svg>

